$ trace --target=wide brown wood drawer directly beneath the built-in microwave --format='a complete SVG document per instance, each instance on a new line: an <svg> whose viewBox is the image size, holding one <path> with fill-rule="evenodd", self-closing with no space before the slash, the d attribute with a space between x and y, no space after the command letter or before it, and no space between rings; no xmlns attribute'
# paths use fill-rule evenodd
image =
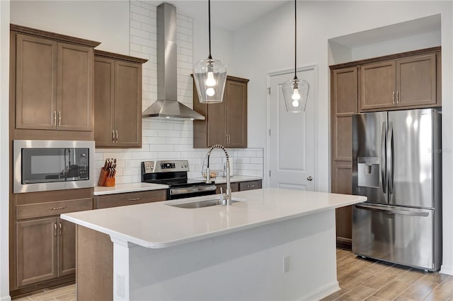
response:
<svg viewBox="0 0 453 301"><path fill-rule="evenodd" d="M47 203L31 203L16 206L17 220L25 218L41 218L59 216L62 213L93 209L93 199L75 199L70 201L51 201Z"/></svg>

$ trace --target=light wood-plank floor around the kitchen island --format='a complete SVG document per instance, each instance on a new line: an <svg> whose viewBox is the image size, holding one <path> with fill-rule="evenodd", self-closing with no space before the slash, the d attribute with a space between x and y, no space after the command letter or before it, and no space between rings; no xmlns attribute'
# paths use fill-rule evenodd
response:
<svg viewBox="0 0 453 301"><path fill-rule="evenodd" d="M337 274L341 290L323 301L453 301L453 276L361 259L343 249L337 250ZM76 285L42 290L16 300L75 301Z"/></svg>

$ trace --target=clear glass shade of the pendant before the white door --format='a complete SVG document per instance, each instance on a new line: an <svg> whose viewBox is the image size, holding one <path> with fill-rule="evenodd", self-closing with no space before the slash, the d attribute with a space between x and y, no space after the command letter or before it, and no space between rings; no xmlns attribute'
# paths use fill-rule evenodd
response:
<svg viewBox="0 0 453 301"><path fill-rule="evenodd" d="M309 83L303 79L293 78L282 85L283 98L287 112L305 112L306 100L309 97Z"/></svg>

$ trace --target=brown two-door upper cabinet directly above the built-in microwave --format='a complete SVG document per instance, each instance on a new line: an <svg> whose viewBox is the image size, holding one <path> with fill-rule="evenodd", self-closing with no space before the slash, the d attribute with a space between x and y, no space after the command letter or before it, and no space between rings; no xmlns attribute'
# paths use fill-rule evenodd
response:
<svg viewBox="0 0 453 301"><path fill-rule="evenodd" d="M12 48L16 49L16 129L92 131L93 45L97 44L72 44L50 33L13 25L11 29L21 31L13 32Z"/></svg>

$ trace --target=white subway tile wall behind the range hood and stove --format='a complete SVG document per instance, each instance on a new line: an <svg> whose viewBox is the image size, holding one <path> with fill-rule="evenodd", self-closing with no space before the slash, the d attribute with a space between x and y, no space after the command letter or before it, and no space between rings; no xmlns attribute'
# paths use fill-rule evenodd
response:
<svg viewBox="0 0 453 301"><path fill-rule="evenodd" d="M193 19L177 13L178 100L193 107ZM130 1L130 55L148 59L143 64L142 110L157 99L156 6L146 1ZM208 149L193 148L193 122L142 119L141 149L96 149L96 175L105 158L117 158L116 183L141 181L144 160L189 160L189 177L202 177ZM263 177L263 148L231 148L234 175ZM213 151L211 170L222 170L221 151Z"/></svg>

